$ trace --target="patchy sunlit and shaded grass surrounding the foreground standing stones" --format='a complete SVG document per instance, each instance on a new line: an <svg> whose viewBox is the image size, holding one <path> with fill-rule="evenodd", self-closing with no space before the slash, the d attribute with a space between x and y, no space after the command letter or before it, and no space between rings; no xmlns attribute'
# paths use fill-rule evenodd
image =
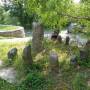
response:
<svg viewBox="0 0 90 90"><path fill-rule="evenodd" d="M45 50L33 55L34 64L28 68L22 60L22 50L27 43L0 43L0 59L8 65L7 52L12 47L18 48L18 57L12 67L18 70L22 78L20 84L12 85L0 79L0 90L90 90L90 62L81 65L80 69L70 65L70 56L79 55L77 46L66 46L50 40L44 41ZM49 53L55 51L59 57L59 74L49 72ZM2 86L2 87L1 87Z"/></svg>

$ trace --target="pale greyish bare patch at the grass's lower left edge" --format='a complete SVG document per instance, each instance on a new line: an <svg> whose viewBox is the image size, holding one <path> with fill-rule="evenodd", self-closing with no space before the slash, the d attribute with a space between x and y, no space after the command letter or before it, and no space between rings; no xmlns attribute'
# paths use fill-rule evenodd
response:
<svg viewBox="0 0 90 90"><path fill-rule="evenodd" d="M3 61L0 60L0 67L3 66ZM9 83L16 83L17 72L12 67L0 68L0 78L6 80Z"/></svg>

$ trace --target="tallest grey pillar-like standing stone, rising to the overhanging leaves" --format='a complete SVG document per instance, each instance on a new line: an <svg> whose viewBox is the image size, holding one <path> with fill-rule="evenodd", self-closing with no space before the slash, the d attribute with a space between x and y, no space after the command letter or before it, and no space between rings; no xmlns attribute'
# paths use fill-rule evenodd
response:
<svg viewBox="0 0 90 90"><path fill-rule="evenodd" d="M33 39L32 48L34 54L41 52L44 48L43 46L44 30L41 23L33 22Z"/></svg>

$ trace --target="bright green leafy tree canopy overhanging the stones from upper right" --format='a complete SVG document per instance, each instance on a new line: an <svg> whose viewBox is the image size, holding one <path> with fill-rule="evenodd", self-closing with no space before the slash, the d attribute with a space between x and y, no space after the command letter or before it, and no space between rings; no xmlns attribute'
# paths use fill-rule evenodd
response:
<svg viewBox="0 0 90 90"><path fill-rule="evenodd" d="M72 0L27 0L27 13L34 13L36 21L43 22L48 27L63 27L68 21L90 21L89 0L74 4Z"/></svg>

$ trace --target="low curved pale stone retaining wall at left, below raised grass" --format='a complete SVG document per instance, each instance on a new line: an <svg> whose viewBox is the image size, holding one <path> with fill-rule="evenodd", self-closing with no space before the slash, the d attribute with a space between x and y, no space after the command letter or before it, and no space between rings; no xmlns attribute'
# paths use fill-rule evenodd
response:
<svg viewBox="0 0 90 90"><path fill-rule="evenodd" d="M23 28L18 28L17 30L10 30L10 31L5 30L0 31L0 36L23 38L25 37L25 32Z"/></svg>

